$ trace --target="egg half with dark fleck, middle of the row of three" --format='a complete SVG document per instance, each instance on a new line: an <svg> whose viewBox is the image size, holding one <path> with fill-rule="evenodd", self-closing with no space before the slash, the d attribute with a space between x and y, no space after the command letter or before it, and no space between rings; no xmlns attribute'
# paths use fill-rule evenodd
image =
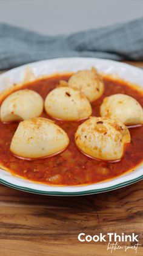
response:
<svg viewBox="0 0 143 256"><path fill-rule="evenodd" d="M80 91L70 87L58 87L48 93L45 111L53 118L76 121L91 115L91 105Z"/></svg>

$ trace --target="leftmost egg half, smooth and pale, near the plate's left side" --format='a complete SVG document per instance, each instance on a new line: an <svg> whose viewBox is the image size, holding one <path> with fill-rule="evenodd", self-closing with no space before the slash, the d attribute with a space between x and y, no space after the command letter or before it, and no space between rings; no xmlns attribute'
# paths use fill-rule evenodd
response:
<svg viewBox="0 0 143 256"><path fill-rule="evenodd" d="M2 102L1 121L7 123L35 118L41 115L43 107L44 101L36 91L18 90L8 95Z"/></svg>

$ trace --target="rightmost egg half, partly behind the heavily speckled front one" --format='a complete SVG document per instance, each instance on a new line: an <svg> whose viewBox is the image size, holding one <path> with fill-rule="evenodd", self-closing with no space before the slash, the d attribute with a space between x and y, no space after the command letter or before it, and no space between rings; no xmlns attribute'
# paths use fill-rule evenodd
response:
<svg viewBox="0 0 143 256"><path fill-rule="evenodd" d="M127 126L143 124L143 109L136 99L125 94L113 94L104 98L101 116L120 119Z"/></svg>

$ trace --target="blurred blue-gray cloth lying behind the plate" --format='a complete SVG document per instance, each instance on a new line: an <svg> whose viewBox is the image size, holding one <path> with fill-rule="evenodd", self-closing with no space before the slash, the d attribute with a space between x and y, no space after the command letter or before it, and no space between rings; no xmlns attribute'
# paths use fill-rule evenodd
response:
<svg viewBox="0 0 143 256"><path fill-rule="evenodd" d="M143 17L70 35L42 35L0 24L0 69L57 57L143 60Z"/></svg>

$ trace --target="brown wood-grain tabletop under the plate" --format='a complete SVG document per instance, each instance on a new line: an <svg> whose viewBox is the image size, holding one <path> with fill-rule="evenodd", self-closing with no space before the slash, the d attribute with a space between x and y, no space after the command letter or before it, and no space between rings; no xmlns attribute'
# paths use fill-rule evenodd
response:
<svg viewBox="0 0 143 256"><path fill-rule="evenodd" d="M135 232L143 244L142 196L143 180L81 197L39 196L0 185L0 256L135 255L131 249L111 254L108 241L81 243L78 235ZM143 255L141 245L136 255Z"/></svg>

